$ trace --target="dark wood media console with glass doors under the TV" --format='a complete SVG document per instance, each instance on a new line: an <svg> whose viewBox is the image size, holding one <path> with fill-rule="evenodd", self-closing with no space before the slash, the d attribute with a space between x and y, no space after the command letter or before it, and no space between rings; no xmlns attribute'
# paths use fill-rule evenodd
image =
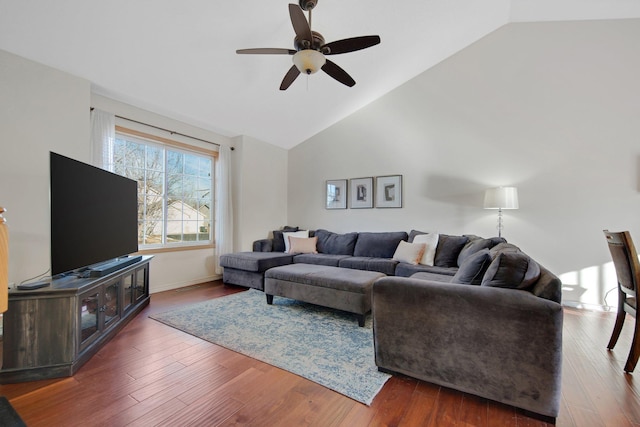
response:
<svg viewBox="0 0 640 427"><path fill-rule="evenodd" d="M103 277L9 291L0 384L73 375L149 304L151 256Z"/></svg>

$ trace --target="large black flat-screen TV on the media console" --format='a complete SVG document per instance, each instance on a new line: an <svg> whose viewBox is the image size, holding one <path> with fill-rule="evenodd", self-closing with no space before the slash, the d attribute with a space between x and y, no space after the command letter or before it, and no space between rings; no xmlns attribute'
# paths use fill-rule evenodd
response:
<svg viewBox="0 0 640 427"><path fill-rule="evenodd" d="M138 250L137 182L51 152L51 274Z"/></svg>

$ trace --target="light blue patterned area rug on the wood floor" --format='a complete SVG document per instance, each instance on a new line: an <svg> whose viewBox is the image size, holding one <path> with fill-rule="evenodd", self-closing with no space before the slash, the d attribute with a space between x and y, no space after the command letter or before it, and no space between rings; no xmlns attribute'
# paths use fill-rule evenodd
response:
<svg viewBox="0 0 640 427"><path fill-rule="evenodd" d="M390 375L374 362L371 316L274 297L255 289L150 316L198 338L300 375L370 405Z"/></svg>

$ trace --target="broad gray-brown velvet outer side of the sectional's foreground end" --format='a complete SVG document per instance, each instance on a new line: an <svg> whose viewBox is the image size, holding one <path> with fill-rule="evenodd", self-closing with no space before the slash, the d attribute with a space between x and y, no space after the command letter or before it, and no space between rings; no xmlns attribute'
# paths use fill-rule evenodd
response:
<svg viewBox="0 0 640 427"><path fill-rule="evenodd" d="M560 304L530 292L402 277L372 290L376 364L556 417Z"/></svg>

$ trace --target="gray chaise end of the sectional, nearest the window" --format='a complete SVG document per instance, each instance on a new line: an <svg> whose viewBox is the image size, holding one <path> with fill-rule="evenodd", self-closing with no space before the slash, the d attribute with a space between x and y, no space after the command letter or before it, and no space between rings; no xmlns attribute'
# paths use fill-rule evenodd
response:
<svg viewBox="0 0 640 427"><path fill-rule="evenodd" d="M264 289L264 272L272 267L293 262L293 255L284 252L236 252L220 256L224 267L222 281L233 285Z"/></svg>

